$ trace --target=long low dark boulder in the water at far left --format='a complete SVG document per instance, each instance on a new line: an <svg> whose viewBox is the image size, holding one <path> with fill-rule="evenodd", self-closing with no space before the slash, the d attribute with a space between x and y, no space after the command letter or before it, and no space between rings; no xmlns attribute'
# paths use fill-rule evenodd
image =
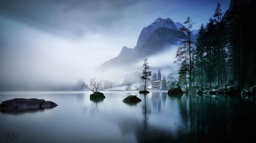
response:
<svg viewBox="0 0 256 143"><path fill-rule="evenodd" d="M44 106L42 106L45 104ZM15 98L11 100L3 101L0 105L0 109L31 109L31 108L45 108L58 106L54 102L45 101L44 99L36 98Z"/></svg>

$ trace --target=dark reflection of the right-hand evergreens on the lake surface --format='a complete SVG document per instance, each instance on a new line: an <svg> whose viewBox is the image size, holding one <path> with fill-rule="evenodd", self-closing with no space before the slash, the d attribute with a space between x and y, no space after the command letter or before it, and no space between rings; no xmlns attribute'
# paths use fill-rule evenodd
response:
<svg viewBox="0 0 256 143"><path fill-rule="evenodd" d="M170 120L161 123L161 117L154 119L154 116L160 115L158 112L166 111L166 104L173 104L171 107L177 108L178 116L170 112L173 114L170 115ZM248 105L240 97L185 94L169 97L163 93L153 92L152 97L144 95L143 124L135 119L127 119L120 127L126 131L129 128L129 131L135 134L137 142L243 140L253 138L256 127L255 108L254 111L247 111L246 108L249 108ZM180 125L177 125L179 122L176 122L176 119L179 119ZM159 124L155 124L154 120L159 120L156 122Z"/></svg>

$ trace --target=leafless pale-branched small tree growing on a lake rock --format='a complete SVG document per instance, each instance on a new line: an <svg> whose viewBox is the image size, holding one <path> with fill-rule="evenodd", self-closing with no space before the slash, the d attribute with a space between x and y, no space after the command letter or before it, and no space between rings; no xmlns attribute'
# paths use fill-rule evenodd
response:
<svg viewBox="0 0 256 143"><path fill-rule="evenodd" d="M96 79L96 77L91 78L89 84L86 82L83 82L82 88L88 89L92 91L93 93L102 90L102 79Z"/></svg>

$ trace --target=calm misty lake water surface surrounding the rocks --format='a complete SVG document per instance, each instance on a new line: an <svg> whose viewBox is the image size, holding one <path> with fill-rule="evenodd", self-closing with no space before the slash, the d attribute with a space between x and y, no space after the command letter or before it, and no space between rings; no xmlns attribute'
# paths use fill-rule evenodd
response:
<svg viewBox="0 0 256 143"><path fill-rule="evenodd" d="M256 106L240 97L103 93L103 101L93 102L90 92L2 92L0 102L38 98L59 106L1 111L0 142L249 142L255 138ZM129 95L142 101L123 103ZM6 140L12 133L17 140Z"/></svg>

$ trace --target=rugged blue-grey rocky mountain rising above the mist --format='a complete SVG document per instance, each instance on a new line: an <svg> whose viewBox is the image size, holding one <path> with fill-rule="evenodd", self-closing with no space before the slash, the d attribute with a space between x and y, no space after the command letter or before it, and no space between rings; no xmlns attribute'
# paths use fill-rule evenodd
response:
<svg viewBox="0 0 256 143"><path fill-rule="evenodd" d="M124 46L118 56L104 62L100 67L133 65L144 58L177 47L181 41L179 36L182 32L179 29L182 26L184 25L181 22L174 22L170 18L157 18L142 29L134 48ZM192 39L196 40L198 31L193 30L191 33Z"/></svg>

